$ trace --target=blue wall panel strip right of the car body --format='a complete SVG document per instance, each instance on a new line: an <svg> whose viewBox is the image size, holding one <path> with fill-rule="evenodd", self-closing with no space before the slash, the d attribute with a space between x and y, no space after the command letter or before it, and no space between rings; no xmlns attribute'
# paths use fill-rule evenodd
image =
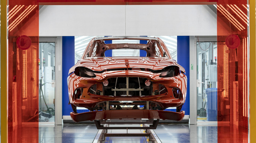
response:
<svg viewBox="0 0 256 143"><path fill-rule="evenodd" d="M177 36L177 61L186 71L187 96L181 110L189 115L189 36Z"/></svg>

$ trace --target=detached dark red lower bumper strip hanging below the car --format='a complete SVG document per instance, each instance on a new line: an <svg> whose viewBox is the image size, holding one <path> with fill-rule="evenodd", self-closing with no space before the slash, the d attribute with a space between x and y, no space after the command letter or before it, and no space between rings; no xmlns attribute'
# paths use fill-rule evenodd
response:
<svg viewBox="0 0 256 143"><path fill-rule="evenodd" d="M100 119L169 119L180 121L184 118L185 111L171 112L162 110L104 110L85 113L71 112L70 116L74 122Z"/></svg>

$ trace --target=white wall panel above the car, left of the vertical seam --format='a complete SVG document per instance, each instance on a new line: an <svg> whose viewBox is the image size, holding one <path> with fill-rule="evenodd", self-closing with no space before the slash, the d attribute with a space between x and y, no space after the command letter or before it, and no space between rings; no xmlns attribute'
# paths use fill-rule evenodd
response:
<svg viewBox="0 0 256 143"><path fill-rule="evenodd" d="M39 36L125 35L125 6L43 6Z"/></svg>

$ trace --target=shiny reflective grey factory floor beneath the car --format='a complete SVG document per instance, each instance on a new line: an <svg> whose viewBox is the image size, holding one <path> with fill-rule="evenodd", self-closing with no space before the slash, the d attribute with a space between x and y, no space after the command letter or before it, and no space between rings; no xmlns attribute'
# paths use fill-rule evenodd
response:
<svg viewBox="0 0 256 143"><path fill-rule="evenodd" d="M64 125L39 125L38 127L22 127L22 132L9 130L9 142L26 143L97 143L97 130L95 124L67 124ZM33 131L34 130L34 131ZM37 131L36 131L37 130ZM128 130L131 132L138 132ZM157 129L151 130L162 143L236 143L248 142L248 130L228 124L158 124ZM31 136L30 132L38 132L37 136ZM121 133L121 130L113 130L108 133ZM126 132L126 130L125 130ZM140 131L141 132L141 131ZM22 136L19 136L22 134ZM15 137L16 136L16 137ZM147 143L147 137L106 137L103 143ZM151 141L149 141L151 142Z"/></svg>

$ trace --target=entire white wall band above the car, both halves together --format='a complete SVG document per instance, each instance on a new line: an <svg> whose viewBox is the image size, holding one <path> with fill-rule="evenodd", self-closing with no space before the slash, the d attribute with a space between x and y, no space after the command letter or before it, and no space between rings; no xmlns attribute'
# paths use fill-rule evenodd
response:
<svg viewBox="0 0 256 143"><path fill-rule="evenodd" d="M43 6L39 36L217 35L206 5Z"/></svg>

